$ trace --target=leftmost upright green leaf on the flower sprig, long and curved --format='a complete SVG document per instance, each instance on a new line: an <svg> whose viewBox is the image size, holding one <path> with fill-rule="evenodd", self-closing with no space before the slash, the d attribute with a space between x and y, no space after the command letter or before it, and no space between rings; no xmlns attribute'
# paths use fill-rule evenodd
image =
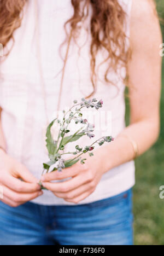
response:
<svg viewBox="0 0 164 256"><path fill-rule="evenodd" d="M46 130L46 148L48 149L48 152L50 155L54 155L57 150L57 142L54 141L54 139L52 138L52 135L51 135L51 127L52 127L52 125L54 125L56 120L57 120L57 118L54 121L52 121L51 124L49 124L49 126Z"/></svg>

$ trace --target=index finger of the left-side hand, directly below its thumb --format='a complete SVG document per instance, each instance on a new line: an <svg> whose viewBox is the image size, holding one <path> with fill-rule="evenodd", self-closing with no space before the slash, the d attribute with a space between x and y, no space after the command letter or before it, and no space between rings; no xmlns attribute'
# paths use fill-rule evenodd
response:
<svg viewBox="0 0 164 256"><path fill-rule="evenodd" d="M10 175L4 175L1 178L1 182L11 190L14 190L16 192L32 193L40 190L39 184L22 182L20 181L20 179L17 179Z"/></svg>

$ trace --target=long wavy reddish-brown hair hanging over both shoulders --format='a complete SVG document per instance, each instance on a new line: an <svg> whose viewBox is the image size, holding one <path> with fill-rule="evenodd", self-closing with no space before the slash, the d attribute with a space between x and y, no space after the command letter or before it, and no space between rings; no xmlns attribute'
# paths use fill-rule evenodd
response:
<svg viewBox="0 0 164 256"><path fill-rule="evenodd" d="M89 8L92 9L89 30L91 33L91 81L94 94L96 90L96 55L102 48L107 51L106 62L109 66L104 75L106 82L111 68L116 71L118 65L127 68L127 60L130 51L126 49L126 34L124 25L126 13L119 4L119 0L70 0L74 8L74 14L66 24L72 28L74 39L78 36L79 22L89 16ZM1 0L0 1L0 43L5 47L10 39L14 40L14 31L21 26L22 11L28 0ZM67 29L66 29L67 32ZM67 38L69 35L67 34ZM90 96L91 96L90 95Z"/></svg>

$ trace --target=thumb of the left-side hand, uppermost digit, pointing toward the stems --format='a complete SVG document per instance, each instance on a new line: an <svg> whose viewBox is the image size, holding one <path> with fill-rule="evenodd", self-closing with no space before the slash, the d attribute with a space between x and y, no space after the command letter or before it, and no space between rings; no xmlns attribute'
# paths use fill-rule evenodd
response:
<svg viewBox="0 0 164 256"><path fill-rule="evenodd" d="M35 178L25 166L18 164L16 166L16 171L19 173L19 176L23 181L29 183L39 183L38 179Z"/></svg>

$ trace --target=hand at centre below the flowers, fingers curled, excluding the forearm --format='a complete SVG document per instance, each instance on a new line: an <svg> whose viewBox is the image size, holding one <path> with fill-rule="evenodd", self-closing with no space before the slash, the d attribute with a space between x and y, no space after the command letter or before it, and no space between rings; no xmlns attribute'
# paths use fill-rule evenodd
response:
<svg viewBox="0 0 164 256"><path fill-rule="evenodd" d="M98 153L97 156L95 154L88 157L84 165L78 162L62 172L45 174L42 177L42 182L43 186L52 191L55 196L61 197L67 202L78 203L95 191L103 173L102 161ZM65 182L51 183L51 181L67 178L71 179Z"/></svg>

